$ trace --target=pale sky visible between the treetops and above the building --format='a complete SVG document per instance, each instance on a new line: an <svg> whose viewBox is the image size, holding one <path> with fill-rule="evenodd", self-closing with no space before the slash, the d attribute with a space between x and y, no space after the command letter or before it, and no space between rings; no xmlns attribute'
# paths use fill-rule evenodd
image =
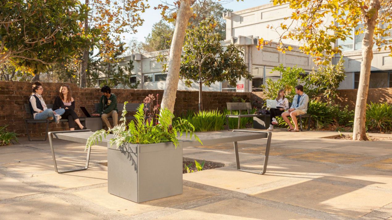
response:
<svg viewBox="0 0 392 220"><path fill-rule="evenodd" d="M222 5L227 9L232 9L233 11L240 11L243 9L257 7L269 3L270 0L240 0L240 2L233 0L232 2L225 3ZM128 43L129 40L131 40L132 38L136 38L138 41L144 41L144 38L147 37L147 35L151 32L152 25L156 22L159 22L159 20L162 18L162 15L160 14L161 11L154 10L154 7L156 7L158 4L162 4L162 2L160 0L149 0L148 4L150 5L150 8L141 15L144 19L143 25L136 28L138 32L136 32L135 34L125 34L125 43Z"/></svg>

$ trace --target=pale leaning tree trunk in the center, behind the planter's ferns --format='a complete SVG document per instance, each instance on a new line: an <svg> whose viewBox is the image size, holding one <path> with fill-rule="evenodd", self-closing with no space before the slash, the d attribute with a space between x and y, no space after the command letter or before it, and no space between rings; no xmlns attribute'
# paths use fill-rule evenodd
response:
<svg viewBox="0 0 392 220"><path fill-rule="evenodd" d="M180 80L181 52L184 44L185 29L192 15L191 0L181 0L180 10L177 14L176 28L174 29L170 46L166 84L161 103L162 109L167 108L171 112L174 111L178 81Z"/></svg>

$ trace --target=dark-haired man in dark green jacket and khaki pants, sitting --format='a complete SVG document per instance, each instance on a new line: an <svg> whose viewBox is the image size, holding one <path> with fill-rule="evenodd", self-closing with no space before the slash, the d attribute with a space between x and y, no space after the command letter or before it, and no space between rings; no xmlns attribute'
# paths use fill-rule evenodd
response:
<svg viewBox="0 0 392 220"><path fill-rule="evenodd" d="M118 109L117 109L117 97L116 95L111 93L111 89L108 86L103 86L101 88L102 97L98 104L98 114L93 114L94 116L101 115L102 121L105 122L108 128L112 128L110 126L108 117L113 118L113 126L117 125L118 120Z"/></svg>

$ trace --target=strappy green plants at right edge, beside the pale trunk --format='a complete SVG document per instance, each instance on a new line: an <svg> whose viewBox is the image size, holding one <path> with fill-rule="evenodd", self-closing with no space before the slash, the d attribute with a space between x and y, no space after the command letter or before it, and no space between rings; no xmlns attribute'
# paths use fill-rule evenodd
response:
<svg viewBox="0 0 392 220"><path fill-rule="evenodd" d="M392 105L388 103L370 103L366 109L366 125L368 130L392 130Z"/></svg>

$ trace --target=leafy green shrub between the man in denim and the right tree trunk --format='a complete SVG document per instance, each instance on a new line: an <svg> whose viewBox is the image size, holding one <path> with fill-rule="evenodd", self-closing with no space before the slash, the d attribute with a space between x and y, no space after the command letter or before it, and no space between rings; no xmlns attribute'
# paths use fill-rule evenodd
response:
<svg viewBox="0 0 392 220"><path fill-rule="evenodd" d="M338 92L338 87L346 77L344 71L343 56L336 65L329 64L327 67L320 66L317 71L309 73L309 85L315 87L316 94L323 93L328 103L333 101ZM315 95L316 95L315 94Z"/></svg>

